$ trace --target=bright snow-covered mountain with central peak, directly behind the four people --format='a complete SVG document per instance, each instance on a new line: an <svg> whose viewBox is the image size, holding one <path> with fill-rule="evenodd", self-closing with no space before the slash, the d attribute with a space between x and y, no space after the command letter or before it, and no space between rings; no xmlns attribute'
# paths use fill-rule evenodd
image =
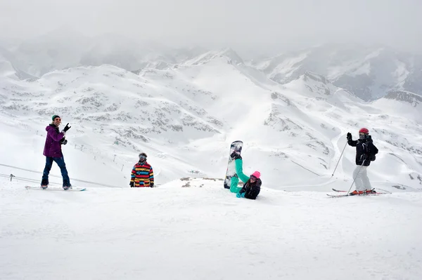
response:
<svg viewBox="0 0 422 280"><path fill-rule="evenodd" d="M19 135L34 139L34 159L28 164L39 169L40 135L51 115L59 114L64 124L72 124L65 147L68 165L76 164L84 149L91 156L103 156L104 164L115 162L117 154L124 167L113 167L120 175L110 172L107 179L116 185L127 185L140 151L150 155L160 183L192 173L221 178L230 142L241 139L246 172L262 171L266 185L276 189L326 182L347 131L357 137L365 126L381 151L371 166L372 179L421 186L422 128L416 103L388 97L367 103L312 72L281 85L238 60L234 51L225 50L167 69L144 68L138 74L101 65L23 81L4 76L2 126L24 128ZM403 102L405 106L397 109ZM13 135L3 145L6 154L18 145ZM73 155L82 145L84 149ZM341 163L339 178L350 178L352 147ZM74 174L77 177L77 171ZM94 174L80 175L96 180Z"/></svg>

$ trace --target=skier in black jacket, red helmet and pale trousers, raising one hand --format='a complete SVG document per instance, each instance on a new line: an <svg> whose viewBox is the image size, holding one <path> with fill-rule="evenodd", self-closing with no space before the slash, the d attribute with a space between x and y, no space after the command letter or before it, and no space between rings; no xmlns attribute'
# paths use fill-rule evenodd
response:
<svg viewBox="0 0 422 280"><path fill-rule="evenodd" d="M355 178L354 183L356 189L351 192L351 195L355 194L368 194L374 193L375 191L371 187L371 182L369 182L368 174L366 169L371 160L375 159L375 154L378 153L378 149L373 145L371 135L369 135L369 130L367 128L361 128L359 130L359 139L352 140L352 134L347 133L347 144L352 147L356 147L356 168L353 171L353 178Z"/></svg>

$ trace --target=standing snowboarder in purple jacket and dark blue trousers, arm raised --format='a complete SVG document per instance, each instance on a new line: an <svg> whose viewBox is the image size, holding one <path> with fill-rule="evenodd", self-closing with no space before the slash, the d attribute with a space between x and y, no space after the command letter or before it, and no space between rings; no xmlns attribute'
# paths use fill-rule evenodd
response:
<svg viewBox="0 0 422 280"><path fill-rule="evenodd" d="M65 159L63 158L63 153L61 151L61 145L66 145L68 140L65 139L66 131L68 131L72 126L66 124L63 131L58 130L60 126L61 118L58 115L54 115L51 119L53 122L46 127L47 138L46 144L44 145L44 156L46 156L46 167L44 168L44 173L42 174L41 188L46 189L49 187L49 173L51 166L53 166L53 161L56 161L58 167L63 177L63 189L72 189L70 185L68 171L66 170Z"/></svg>

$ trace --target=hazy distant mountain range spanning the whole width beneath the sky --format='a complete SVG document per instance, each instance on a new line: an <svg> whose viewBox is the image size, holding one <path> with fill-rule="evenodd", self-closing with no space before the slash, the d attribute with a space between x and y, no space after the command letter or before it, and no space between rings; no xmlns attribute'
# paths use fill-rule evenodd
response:
<svg viewBox="0 0 422 280"><path fill-rule="evenodd" d="M87 37L62 27L53 32L18 41L0 41L0 55L27 75L42 76L57 69L114 65L132 72L144 68L172 69L178 65L205 62L224 55L236 64L245 63L279 84L288 84L306 72L324 76L362 100L376 100L390 91L422 95L422 56L385 46L325 44L244 61L231 48L169 48L151 41L118 34Z"/></svg>

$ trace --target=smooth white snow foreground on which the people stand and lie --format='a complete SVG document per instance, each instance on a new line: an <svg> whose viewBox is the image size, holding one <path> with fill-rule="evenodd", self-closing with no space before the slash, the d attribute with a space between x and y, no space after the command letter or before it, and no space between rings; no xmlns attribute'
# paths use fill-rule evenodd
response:
<svg viewBox="0 0 422 280"><path fill-rule="evenodd" d="M422 279L422 192L0 187L0 279ZM199 187L201 186L202 187Z"/></svg>

